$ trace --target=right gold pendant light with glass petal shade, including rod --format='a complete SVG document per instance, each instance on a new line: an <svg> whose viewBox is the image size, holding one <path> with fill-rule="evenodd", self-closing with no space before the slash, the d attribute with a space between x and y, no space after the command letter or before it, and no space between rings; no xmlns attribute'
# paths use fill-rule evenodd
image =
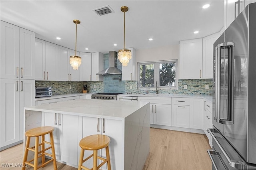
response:
<svg viewBox="0 0 256 170"><path fill-rule="evenodd" d="M132 51L125 49L125 12L128 11L128 7L122 6L121 11L124 12L124 49L118 51L118 59L122 63L122 66L127 66L129 60L132 59Z"/></svg>

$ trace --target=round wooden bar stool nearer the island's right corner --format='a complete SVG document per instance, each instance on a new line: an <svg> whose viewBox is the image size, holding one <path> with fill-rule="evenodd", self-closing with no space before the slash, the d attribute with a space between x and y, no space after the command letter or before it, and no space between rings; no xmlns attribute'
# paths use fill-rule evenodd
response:
<svg viewBox="0 0 256 170"><path fill-rule="evenodd" d="M110 143L110 138L106 135L102 134L94 134L90 136L86 136L85 138L82 138L79 142L79 146L81 147L81 152L80 152L80 160L78 164L78 170L98 170L103 164L107 163L108 164L108 170L111 170L111 165L110 165L110 156L109 156L109 149L108 149L108 144ZM98 150L106 148L106 156L107 158L102 158L98 156ZM93 154L88 156L87 158L84 158L84 150L93 150ZM82 166L82 164L90 159L93 156L93 168L89 169L86 168L85 166ZM100 160L103 160L103 162L97 166L97 158Z"/></svg>

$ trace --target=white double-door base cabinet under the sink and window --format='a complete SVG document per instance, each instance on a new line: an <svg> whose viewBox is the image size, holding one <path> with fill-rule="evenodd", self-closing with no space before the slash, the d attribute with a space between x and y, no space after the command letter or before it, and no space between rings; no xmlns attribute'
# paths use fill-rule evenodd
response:
<svg viewBox="0 0 256 170"><path fill-rule="evenodd" d="M150 124L171 126L172 98L138 97L138 101L150 102Z"/></svg>

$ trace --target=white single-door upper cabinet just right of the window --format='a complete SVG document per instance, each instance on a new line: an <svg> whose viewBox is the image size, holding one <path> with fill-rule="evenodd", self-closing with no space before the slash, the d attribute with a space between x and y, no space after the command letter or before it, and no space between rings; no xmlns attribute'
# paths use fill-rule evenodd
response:
<svg viewBox="0 0 256 170"><path fill-rule="evenodd" d="M180 79L202 79L202 38L180 41Z"/></svg>

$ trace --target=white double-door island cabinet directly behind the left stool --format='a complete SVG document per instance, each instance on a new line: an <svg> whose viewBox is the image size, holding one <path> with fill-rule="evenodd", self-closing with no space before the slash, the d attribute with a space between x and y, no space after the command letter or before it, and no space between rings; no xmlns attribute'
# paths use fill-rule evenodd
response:
<svg viewBox="0 0 256 170"><path fill-rule="evenodd" d="M78 165L78 116L59 113L44 113L42 126L54 127L54 147L56 159ZM50 136L45 136L50 141ZM49 147L46 144L45 147ZM48 153L51 150L48 150Z"/></svg>

